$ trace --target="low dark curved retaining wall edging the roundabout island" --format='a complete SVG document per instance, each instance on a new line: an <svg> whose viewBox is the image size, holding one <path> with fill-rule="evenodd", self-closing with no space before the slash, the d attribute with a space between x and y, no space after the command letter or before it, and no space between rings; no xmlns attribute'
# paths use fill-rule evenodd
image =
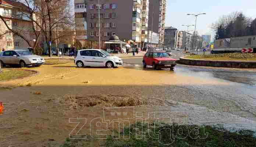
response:
<svg viewBox="0 0 256 147"><path fill-rule="evenodd" d="M256 61L225 61L225 60L200 60L180 57L179 62L186 65L227 67L227 68L256 68Z"/></svg>

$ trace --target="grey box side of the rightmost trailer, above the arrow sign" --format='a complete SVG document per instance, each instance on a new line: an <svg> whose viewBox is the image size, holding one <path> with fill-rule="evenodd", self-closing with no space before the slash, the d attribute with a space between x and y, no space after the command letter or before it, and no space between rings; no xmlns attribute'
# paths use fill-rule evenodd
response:
<svg viewBox="0 0 256 147"><path fill-rule="evenodd" d="M243 36L231 38L232 48L252 47L256 48L256 36Z"/></svg>

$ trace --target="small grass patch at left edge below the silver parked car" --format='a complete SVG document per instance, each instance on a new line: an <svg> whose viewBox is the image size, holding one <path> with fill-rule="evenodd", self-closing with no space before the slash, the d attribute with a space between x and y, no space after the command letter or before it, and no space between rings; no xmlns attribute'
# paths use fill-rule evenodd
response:
<svg viewBox="0 0 256 147"><path fill-rule="evenodd" d="M24 78L26 76L33 75L35 71L21 70L21 69L2 69L0 73L0 81Z"/></svg>

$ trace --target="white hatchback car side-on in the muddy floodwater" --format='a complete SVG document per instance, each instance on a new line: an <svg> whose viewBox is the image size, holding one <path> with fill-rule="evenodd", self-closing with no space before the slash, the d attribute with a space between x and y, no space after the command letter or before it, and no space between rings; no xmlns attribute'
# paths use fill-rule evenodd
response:
<svg viewBox="0 0 256 147"><path fill-rule="evenodd" d="M107 51L98 49L78 50L75 57L78 68L85 66L113 68L122 66L123 61L117 56L110 55Z"/></svg>

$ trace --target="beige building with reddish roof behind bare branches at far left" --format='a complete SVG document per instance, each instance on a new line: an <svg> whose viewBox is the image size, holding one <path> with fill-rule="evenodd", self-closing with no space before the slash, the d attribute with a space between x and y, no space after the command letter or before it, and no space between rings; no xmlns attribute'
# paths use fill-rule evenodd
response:
<svg viewBox="0 0 256 147"><path fill-rule="evenodd" d="M28 7L23 3L15 0L2 0L0 5L0 15L4 17L6 23L11 29L18 30L21 35L31 40L33 44L33 32L30 31L32 28L31 20L23 13L29 14ZM33 16L35 17L35 16ZM21 37L10 32L3 21L0 20L0 48L6 50L14 49L28 49L28 43L25 42Z"/></svg>

